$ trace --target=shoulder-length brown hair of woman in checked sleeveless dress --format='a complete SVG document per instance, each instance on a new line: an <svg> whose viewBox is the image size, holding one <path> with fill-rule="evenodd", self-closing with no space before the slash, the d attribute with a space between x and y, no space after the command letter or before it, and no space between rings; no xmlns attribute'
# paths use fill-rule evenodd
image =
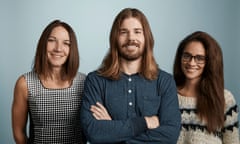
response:
<svg viewBox="0 0 240 144"><path fill-rule="evenodd" d="M43 75L44 78L48 76L51 77L51 66L47 60L47 42L52 30L58 26L64 27L68 31L68 34L70 37L70 52L66 60L66 63L63 65L61 77L63 80L72 80L75 77L79 67L79 53L78 53L78 46L77 46L77 38L71 26L60 20L52 21L43 30L40 36L40 39L38 41L34 64L33 64L33 70L38 75Z"/></svg>

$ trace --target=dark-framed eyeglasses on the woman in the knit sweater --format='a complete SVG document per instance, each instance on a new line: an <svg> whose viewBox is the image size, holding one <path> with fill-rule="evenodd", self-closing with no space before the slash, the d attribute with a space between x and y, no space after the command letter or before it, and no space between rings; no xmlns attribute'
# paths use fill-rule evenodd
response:
<svg viewBox="0 0 240 144"><path fill-rule="evenodd" d="M203 56L203 55L191 55L190 53L187 53L187 52L184 52L183 55L182 55L182 60L184 62L190 62L192 60L192 58L194 58L194 61L197 63L197 64L204 64L206 62L206 56Z"/></svg>

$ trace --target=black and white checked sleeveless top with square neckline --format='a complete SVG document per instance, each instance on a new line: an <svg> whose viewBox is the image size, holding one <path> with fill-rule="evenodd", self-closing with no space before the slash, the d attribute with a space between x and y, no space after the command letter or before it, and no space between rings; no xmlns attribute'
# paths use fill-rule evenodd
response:
<svg viewBox="0 0 240 144"><path fill-rule="evenodd" d="M85 74L77 73L72 85L63 89L45 88L35 72L24 77L30 116L28 143L82 143L80 106Z"/></svg>

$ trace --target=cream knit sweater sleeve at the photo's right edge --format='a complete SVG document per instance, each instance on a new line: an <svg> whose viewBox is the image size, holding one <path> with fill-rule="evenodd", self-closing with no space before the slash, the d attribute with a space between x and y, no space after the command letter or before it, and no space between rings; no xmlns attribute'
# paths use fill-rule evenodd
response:
<svg viewBox="0 0 240 144"><path fill-rule="evenodd" d="M239 109L232 93L228 90L224 91L226 101L225 108L225 122L223 129L223 143L224 144L238 144L239 143Z"/></svg>

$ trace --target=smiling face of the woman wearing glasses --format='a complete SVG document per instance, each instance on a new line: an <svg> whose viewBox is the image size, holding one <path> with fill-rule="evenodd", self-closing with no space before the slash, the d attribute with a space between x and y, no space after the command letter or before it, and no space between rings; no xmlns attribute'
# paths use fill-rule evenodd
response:
<svg viewBox="0 0 240 144"><path fill-rule="evenodd" d="M181 68L188 80L199 80L203 73L205 67L205 61L203 62L201 58L205 58L205 49L201 42L193 41L187 44L183 51L183 55L181 58ZM187 57L191 57L190 60L186 60ZM195 57L194 57L195 56ZM189 59L189 58L187 58ZM195 59L199 59L196 62ZM206 60L206 59L204 59ZM200 62L200 63L199 63Z"/></svg>

